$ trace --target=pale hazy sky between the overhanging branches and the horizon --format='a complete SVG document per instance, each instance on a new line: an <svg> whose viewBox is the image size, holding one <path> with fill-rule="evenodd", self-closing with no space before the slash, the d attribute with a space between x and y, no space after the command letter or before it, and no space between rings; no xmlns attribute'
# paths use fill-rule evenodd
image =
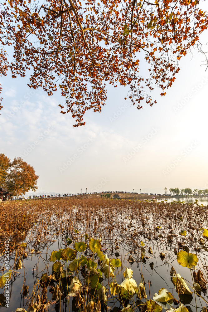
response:
<svg viewBox="0 0 208 312"><path fill-rule="evenodd" d="M207 32L202 41L206 37ZM142 110L124 100L127 88L108 86L101 114L88 111L79 128L73 128L70 114L60 114L64 98L58 93L48 97L29 89L28 77L8 74L2 78L0 151L34 167L37 193L208 188L203 60L197 51L183 58L167 95L156 95L157 104L144 103Z"/></svg>

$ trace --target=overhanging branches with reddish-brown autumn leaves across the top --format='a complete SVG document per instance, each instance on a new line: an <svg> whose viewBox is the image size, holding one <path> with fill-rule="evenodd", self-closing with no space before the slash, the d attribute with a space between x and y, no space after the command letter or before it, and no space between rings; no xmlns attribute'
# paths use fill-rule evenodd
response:
<svg viewBox="0 0 208 312"><path fill-rule="evenodd" d="M24 77L48 95L60 88L61 113L84 125L86 110L101 111L106 83L129 87L138 109L172 86L179 60L208 26L202 0L5 0L1 2L0 72ZM7 62L7 45L14 47ZM146 62L147 73L140 64Z"/></svg>

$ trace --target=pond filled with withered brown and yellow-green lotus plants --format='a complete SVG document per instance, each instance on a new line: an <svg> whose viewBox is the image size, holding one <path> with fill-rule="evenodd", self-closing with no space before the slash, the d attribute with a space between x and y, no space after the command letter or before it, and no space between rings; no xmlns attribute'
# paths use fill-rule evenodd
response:
<svg viewBox="0 0 208 312"><path fill-rule="evenodd" d="M208 207L1 203L1 311L207 312Z"/></svg>

